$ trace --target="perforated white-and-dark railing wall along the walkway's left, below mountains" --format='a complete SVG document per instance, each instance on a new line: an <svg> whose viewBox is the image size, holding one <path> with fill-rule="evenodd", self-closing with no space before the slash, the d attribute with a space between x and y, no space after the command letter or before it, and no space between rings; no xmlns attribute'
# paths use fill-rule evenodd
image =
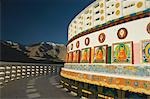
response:
<svg viewBox="0 0 150 99"><path fill-rule="evenodd" d="M48 74L59 74L64 64L0 63L0 85L10 81Z"/></svg>

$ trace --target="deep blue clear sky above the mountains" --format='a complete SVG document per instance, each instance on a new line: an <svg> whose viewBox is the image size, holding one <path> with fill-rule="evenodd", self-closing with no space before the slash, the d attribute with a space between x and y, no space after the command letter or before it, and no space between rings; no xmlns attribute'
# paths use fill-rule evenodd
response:
<svg viewBox="0 0 150 99"><path fill-rule="evenodd" d="M1 39L67 43L70 21L94 0L2 0Z"/></svg>

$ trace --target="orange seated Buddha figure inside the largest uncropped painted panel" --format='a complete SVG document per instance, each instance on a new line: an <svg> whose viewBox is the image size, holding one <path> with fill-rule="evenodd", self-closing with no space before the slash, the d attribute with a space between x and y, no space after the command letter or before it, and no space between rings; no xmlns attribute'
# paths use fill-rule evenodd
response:
<svg viewBox="0 0 150 99"><path fill-rule="evenodd" d="M117 59L119 61L126 61L126 59L127 59L127 54L126 54L126 49L125 49L125 45L124 44L120 44L119 45Z"/></svg>

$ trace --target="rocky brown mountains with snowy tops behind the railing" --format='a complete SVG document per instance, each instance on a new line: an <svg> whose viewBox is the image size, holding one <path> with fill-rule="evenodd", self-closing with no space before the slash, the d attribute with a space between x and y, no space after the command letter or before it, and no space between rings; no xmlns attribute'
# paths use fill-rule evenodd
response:
<svg viewBox="0 0 150 99"><path fill-rule="evenodd" d="M15 62L64 62L66 46L52 42L22 45L12 41L0 41L1 61Z"/></svg>

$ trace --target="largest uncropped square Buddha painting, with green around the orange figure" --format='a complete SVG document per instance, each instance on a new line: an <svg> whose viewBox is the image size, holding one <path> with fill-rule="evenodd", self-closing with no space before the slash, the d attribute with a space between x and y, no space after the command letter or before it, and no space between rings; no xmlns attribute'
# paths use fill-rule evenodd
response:
<svg viewBox="0 0 150 99"><path fill-rule="evenodd" d="M131 44L126 43L126 42L115 44L113 46L113 62L132 63L132 45Z"/></svg>

